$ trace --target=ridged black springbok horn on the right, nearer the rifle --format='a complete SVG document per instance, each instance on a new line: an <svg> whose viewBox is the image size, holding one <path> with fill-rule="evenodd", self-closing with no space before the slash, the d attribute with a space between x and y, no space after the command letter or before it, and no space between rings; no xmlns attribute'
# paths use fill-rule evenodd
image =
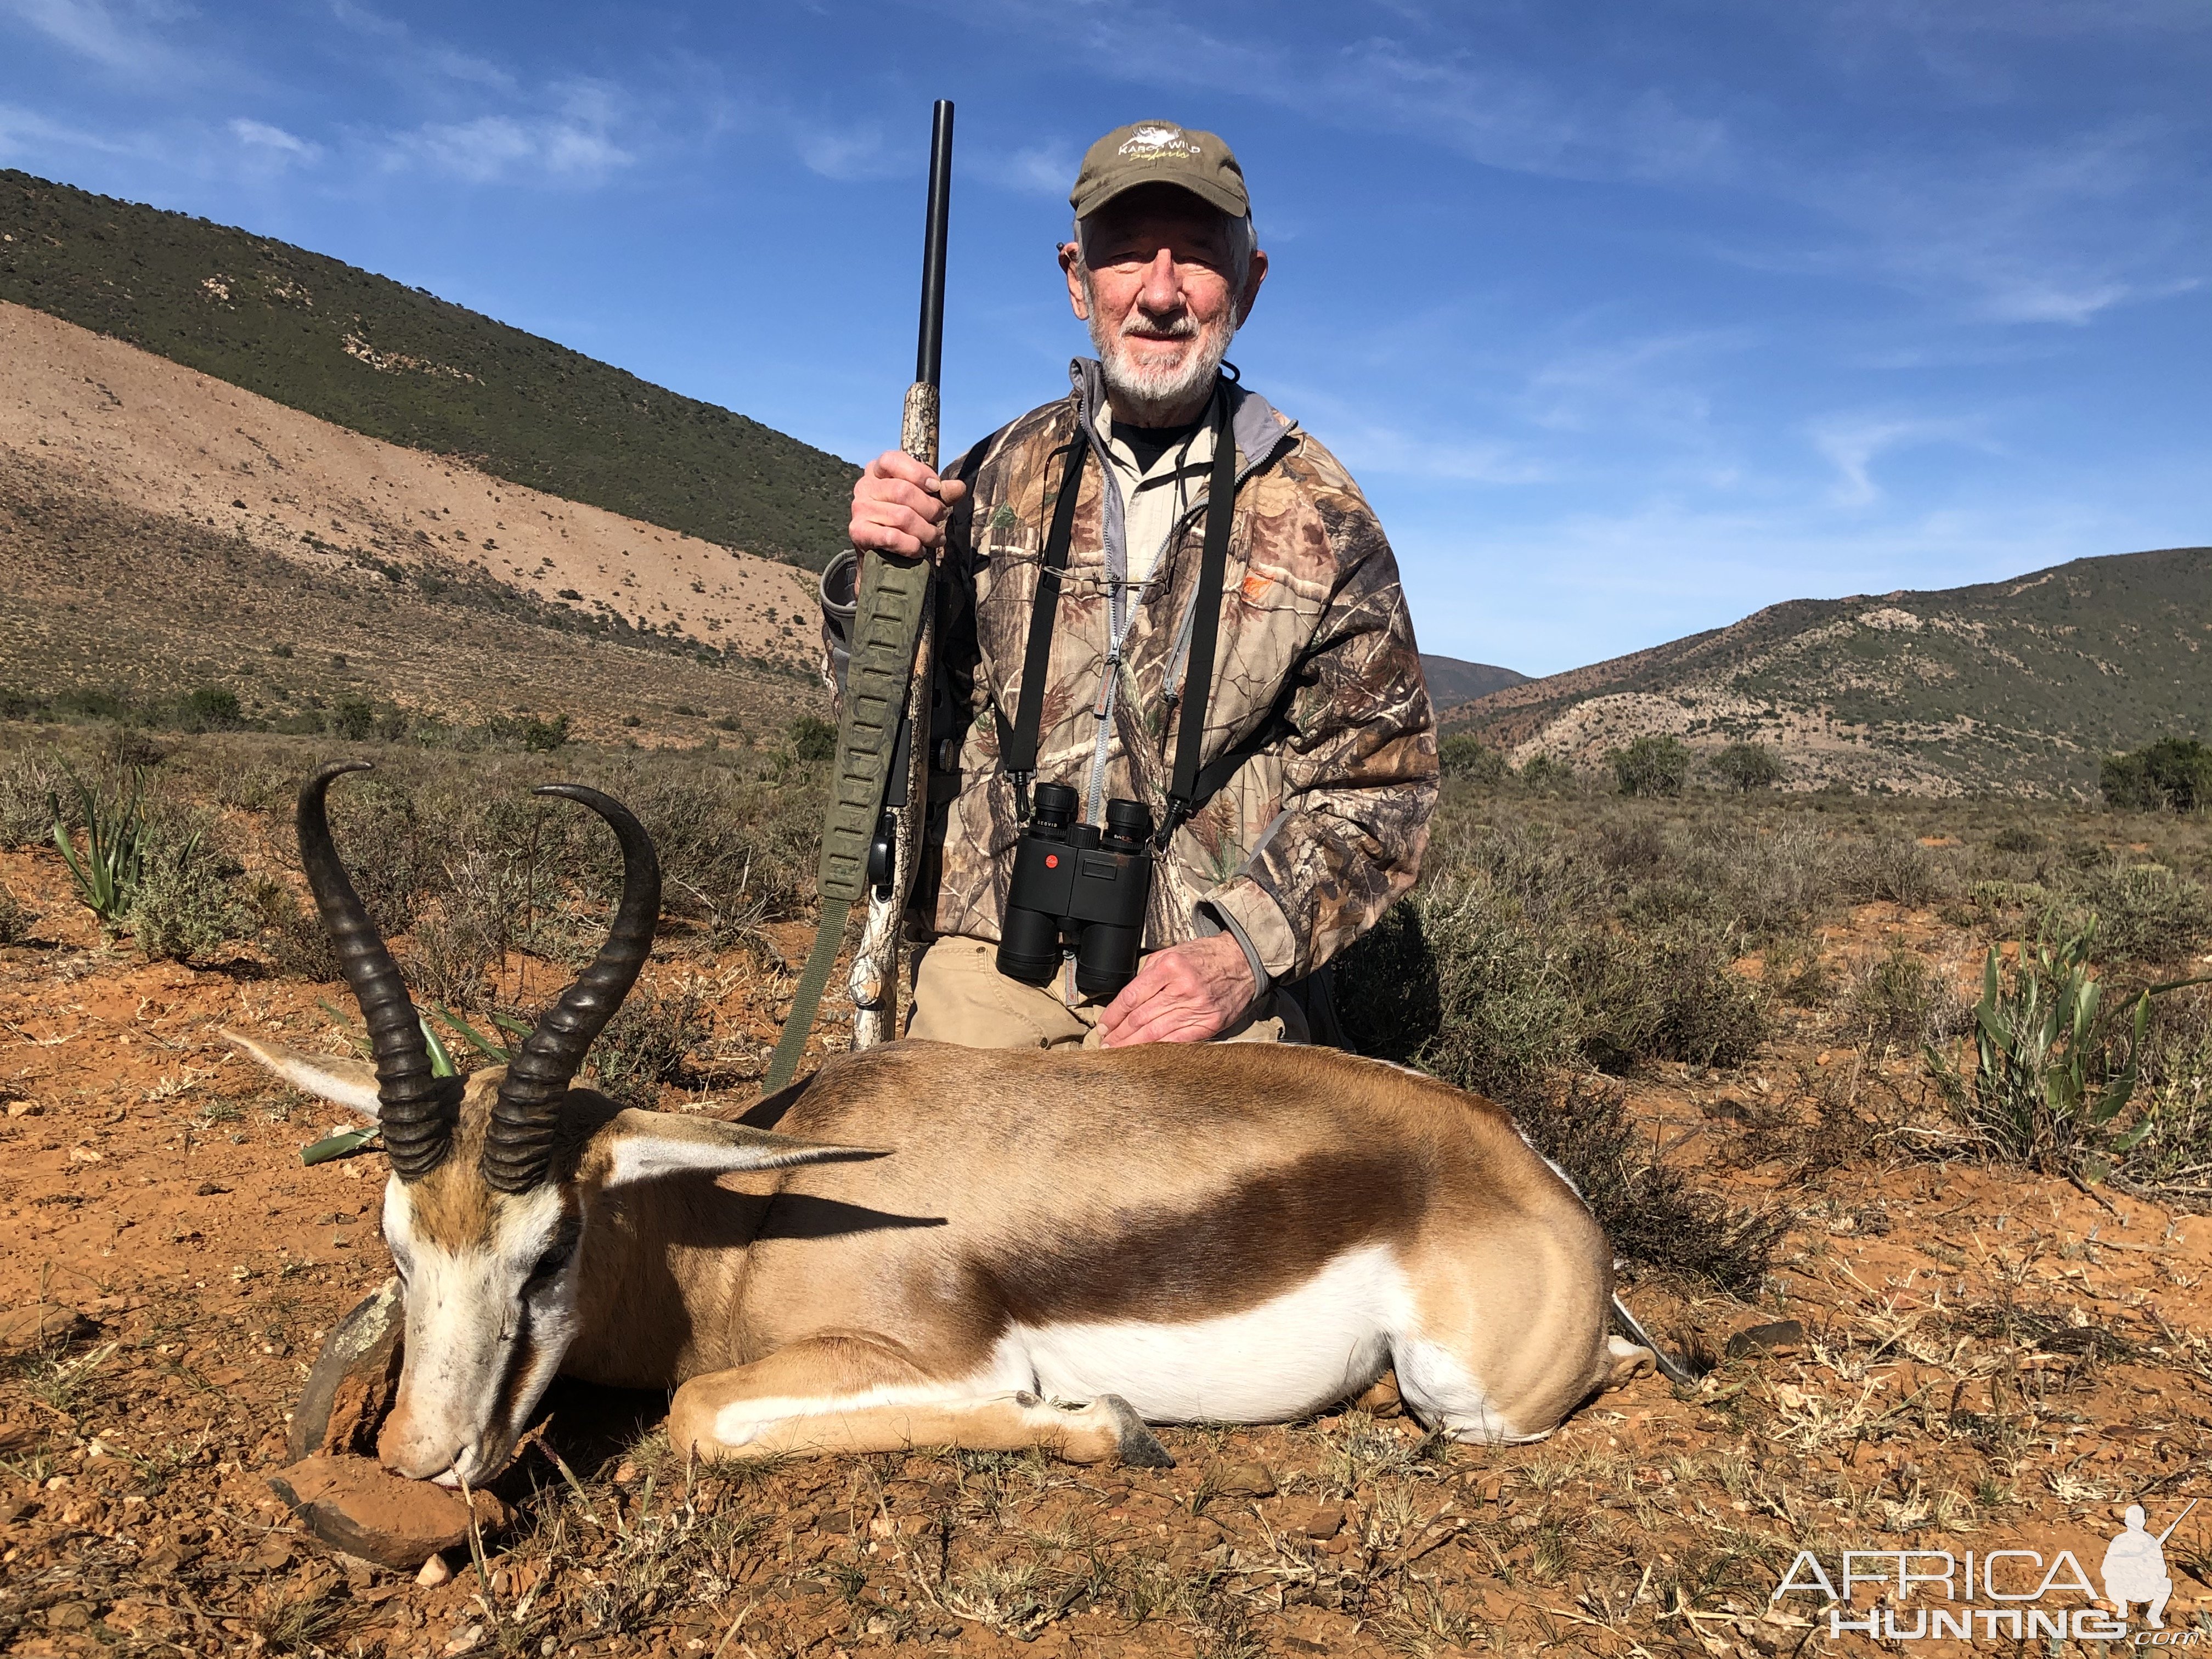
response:
<svg viewBox="0 0 2212 1659"><path fill-rule="evenodd" d="M507 1064L507 1082L491 1106L484 1137L484 1183L500 1192L529 1192L544 1181L560 1126L560 1097L584 1064L593 1037L615 1018L622 998L637 984L637 971L653 951L653 927L661 918L661 860L653 836L630 810L582 783L546 783L531 794L582 801L613 827L622 843L622 905L606 929L606 945Z"/></svg>

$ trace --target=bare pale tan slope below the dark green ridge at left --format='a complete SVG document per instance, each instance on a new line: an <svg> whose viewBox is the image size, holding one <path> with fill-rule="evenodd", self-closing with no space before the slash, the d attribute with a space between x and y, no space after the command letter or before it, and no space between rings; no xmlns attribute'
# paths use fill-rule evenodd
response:
<svg viewBox="0 0 2212 1659"><path fill-rule="evenodd" d="M803 571L0 303L0 701L372 701L697 743L823 703ZM635 719L637 726L626 726Z"/></svg>

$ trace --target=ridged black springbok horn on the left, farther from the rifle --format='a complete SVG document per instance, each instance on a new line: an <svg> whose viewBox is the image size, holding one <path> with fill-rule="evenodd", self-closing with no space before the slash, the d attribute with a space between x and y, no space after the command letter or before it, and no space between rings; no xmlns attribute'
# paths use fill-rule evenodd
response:
<svg viewBox="0 0 2212 1659"><path fill-rule="evenodd" d="M330 945L338 953L338 971L354 989L361 1018L369 1026L369 1053L376 1057L378 1124L392 1170L403 1181L420 1181L453 1144L453 1119L460 1115L460 1077L438 1077L422 1042L422 1022L407 998L398 962L385 949L367 905L338 863L330 841L330 812L323 794L332 779L374 770L367 761L332 761L307 779L299 792L299 863L307 872L314 907L323 914Z"/></svg>

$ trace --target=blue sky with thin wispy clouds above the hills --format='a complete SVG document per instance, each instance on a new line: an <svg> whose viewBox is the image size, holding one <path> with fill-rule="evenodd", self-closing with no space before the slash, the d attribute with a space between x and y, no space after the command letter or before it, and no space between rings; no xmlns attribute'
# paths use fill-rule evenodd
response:
<svg viewBox="0 0 2212 1659"><path fill-rule="evenodd" d="M1230 356L1422 646L1553 672L1774 599L2212 540L2203 0L0 0L0 164L305 243L863 458L960 104L947 442L1088 349L1084 146L1223 133Z"/></svg>

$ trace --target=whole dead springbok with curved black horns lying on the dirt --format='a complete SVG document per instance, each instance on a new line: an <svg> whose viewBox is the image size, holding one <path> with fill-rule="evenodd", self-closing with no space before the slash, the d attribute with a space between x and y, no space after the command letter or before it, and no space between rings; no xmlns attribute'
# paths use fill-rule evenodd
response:
<svg viewBox="0 0 2212 1659"><path fill-rule="evenodd" d="M582 785L538 794L622 843L606 945L509 1066L438 1077L332 847L325 792L365 765L307 781L299 841L374 1068L228 1035L383 1128L400 1475L487 1480L555 1371L672 1387L670 1440L701 1458L1164 1464L1148 1420L1294 1420L1385 1367L1425 1425L1535 1440L1655 1358L1606 1334L1606 1239L1513 1119L1374 1060L898 1042L752 1121L573 1088L659 914L650 838Z"/></svg>

